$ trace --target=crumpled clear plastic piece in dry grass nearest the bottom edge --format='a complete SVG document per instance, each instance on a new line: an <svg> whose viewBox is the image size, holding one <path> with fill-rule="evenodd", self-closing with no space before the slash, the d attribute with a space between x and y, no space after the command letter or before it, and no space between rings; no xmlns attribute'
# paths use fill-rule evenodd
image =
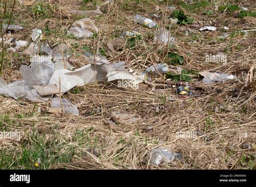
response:
<svg viewBox="0 0 256 187"><path fill-rule="evenodd" d="M154 166L159 166L160 164L166 164L173 161L180 161L182 158L180 153L170 152L167 149L156 148L152 152L147 154L146 159L149 163Z"/></svg>

